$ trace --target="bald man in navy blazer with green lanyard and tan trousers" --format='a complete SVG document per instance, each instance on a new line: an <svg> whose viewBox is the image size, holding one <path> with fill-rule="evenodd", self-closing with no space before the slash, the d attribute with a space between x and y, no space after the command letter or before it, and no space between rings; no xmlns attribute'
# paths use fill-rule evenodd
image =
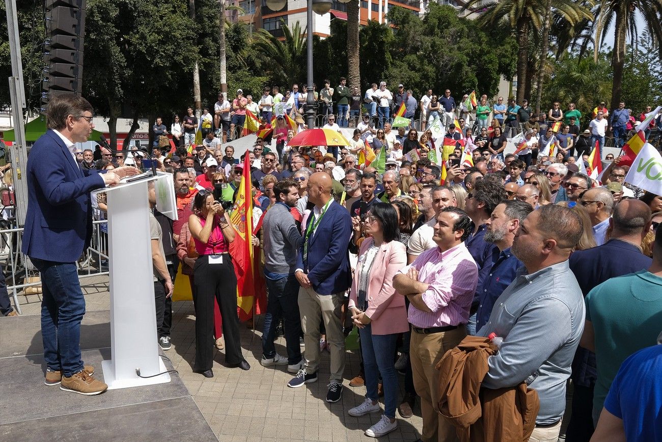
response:
<svg viewBox="0 0 662 442"><path fill-rule="evenodd" d="M330 383L327 402L338 402L342 396L342 374L345 368L345 335L340 311L344 294L352 284L348 247L352 219L347 209L331 197L332 181L325 172L308 179L308 201L315 207L305 226L304 241L297 256L295 276L299 289L299 313L306 345L305 367L287 386L297 388L316 382L320 361L320 319L326 328L326 341L331 353Z"/></svg>

